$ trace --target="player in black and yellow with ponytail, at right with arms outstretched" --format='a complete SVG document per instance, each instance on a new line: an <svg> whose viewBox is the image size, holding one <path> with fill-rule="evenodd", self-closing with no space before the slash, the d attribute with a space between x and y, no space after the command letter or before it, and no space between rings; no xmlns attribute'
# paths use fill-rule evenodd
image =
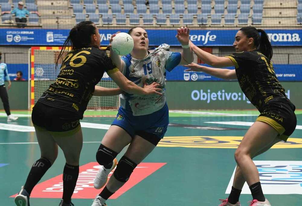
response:
<svg viewBox="0 0 302 206"><path fill-rule="evenodd" d="M286 97L276 77L271 62L272 47L264 30L241 28L236 33L233 46L236 53L217 57L191 43L193 51L205 63L213 67L235 66L235 69L189 64L186 71L202 71L226 80L238 79L243 93L260 112L235 152L237 167L232 191L229 198L221 200L220 206L239 206L239 195L245 182L252 192L251 206L270 206L263 195L259 173L252 158L281 140L287 141L297 125L295 106Z"/></svg>

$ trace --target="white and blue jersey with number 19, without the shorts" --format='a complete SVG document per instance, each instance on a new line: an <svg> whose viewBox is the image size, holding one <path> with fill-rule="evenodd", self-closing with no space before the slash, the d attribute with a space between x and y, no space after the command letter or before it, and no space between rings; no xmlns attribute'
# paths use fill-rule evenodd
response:
<svg viewBox="0 0 302 206"><path fill-rule="evenodd" d="M148 85L156 82L162 88L162 95L121 94L122 107L132 111L133 116L151 114L165 106L165 72L172 71L182 58L181 53L170 52L169 49L169 45L162 44L150 50L143 59L134 59L130 54L121 58L125 62L122 72L127 79L140 87L143 87L144 82Z"/></svg>

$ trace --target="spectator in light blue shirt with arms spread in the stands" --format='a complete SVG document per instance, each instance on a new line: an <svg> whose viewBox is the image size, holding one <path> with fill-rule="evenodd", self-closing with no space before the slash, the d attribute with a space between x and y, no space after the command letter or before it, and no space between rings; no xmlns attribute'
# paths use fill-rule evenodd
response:
<svg viewBox="0 0 302 206"><path fill-rule="evenodd" d="M38 11L31 11L29 12L27 9L24 8L24 3L23 2L18 2L18 8L14 8L12 11L3 11L1 13L1 15L3 14L16 14L16 18L15 18L15 21L17 23L17 27L18 28L24 28L26 26L26 15L29 15L30 13L32 14L37 14L40 16L39 12Z"/></svg>

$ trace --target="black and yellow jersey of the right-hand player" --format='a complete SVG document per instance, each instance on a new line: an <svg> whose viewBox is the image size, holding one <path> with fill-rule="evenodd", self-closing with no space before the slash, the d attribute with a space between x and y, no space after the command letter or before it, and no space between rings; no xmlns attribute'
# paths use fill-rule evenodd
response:
<svg viewBox="0 0 302 206"><path fill-rule="evenodd" d="M275 74L272 62L259 50L233 53L239 85L249 101L262 112L268 102L291 103Z"/></svg>

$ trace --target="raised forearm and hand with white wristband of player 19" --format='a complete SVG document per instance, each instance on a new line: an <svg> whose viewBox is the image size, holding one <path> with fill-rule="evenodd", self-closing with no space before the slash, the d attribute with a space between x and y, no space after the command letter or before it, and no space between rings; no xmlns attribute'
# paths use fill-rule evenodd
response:
<svg viewBox="0 0 302 206"><path fill-rule="evenodd" d="M182 60L180 61L179 65L187 65L194 61L193 52L189 46L189 34L190 29L187 27L181 27L177 29L176 38L179 43L182 44Z"/></svg>

